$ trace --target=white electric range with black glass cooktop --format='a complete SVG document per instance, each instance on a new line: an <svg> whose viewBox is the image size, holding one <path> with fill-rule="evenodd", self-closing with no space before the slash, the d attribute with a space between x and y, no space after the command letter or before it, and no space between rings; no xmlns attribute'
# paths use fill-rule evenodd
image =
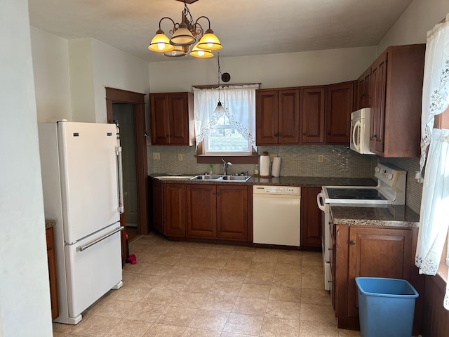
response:
<svg viewBox="0 0 449 337"><path fill-rule="evenodd" d="M321 248L323 249L324 289L330 290L330 239L331 226L330 205L341 206L376 206L403 205L406 203L407 172L391 164L377 164L374 176L377 186L323 186L316 196L316 203L323 211L321 227Z"/></svg>

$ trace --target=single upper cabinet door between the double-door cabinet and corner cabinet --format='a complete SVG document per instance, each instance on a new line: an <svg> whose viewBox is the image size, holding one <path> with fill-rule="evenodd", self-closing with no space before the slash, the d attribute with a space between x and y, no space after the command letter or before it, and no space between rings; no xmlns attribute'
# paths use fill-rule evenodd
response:
<svg viewBox="0 0 449 337"><path fill-rule="evenodd" d="M325 93L324 87L302 89L302 144L324 143Z"/></svg>

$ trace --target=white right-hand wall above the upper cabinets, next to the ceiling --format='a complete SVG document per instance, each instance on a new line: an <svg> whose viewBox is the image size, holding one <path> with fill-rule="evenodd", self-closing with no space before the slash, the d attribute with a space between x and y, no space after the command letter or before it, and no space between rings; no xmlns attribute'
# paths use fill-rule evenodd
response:
<svg viewBox="0 0 449 337"><path fill-rule="evenodd" d="M415 0L408 6L378 44L382 53L388 46L425 44L427 31L449 13L449 0Z"/></svg>

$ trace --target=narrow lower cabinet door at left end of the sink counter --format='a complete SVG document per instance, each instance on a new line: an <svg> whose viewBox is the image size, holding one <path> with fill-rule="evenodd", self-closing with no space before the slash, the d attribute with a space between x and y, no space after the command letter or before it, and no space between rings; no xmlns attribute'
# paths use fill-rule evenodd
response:
<svg viewBox="0 0 449 337"><path fill-rule="evenodd" d="M164 234L185 237L185 184L163 185L163 222Z"/></svg>

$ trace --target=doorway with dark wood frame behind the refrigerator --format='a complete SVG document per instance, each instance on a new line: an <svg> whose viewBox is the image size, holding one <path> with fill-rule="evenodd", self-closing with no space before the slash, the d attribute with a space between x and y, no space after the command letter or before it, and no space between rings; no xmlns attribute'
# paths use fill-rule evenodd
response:
<svg viewBox="0 0 449 337"><path fill-rule="evenodd" d="M123 197L125 212L121 225L130 235L149 232L147 209L147 141L145 94L106 88L107 120L119 121L123 154Z"/></svg>

